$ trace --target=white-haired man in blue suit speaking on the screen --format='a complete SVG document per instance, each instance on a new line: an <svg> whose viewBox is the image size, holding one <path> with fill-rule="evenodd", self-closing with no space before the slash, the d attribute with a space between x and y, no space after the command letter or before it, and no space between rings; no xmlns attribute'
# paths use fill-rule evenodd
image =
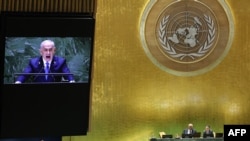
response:
<svg viewBox="0 0 250 141"><path fill-rule="evenodd" d="M72 74L67 75L46 75L46 73L70 73L66 59L55 56L55 43L52 40L44 40L40 44L41 56L32 58L23 73L43 73L44 75L32 76L32 82L61 82L62 79L72 83L75 82ZM24 83L31 75L20 75L15 83Z"/></svg>

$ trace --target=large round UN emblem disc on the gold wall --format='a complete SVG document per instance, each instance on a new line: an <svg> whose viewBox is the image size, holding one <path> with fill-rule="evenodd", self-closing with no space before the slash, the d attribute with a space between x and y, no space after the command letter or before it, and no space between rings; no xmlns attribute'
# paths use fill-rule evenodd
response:
<svg viewBox="0 0 250 141"><path fill-rule="evenodd" d="M178 76L212 70L228 53L234 34L224 0L151 0L140 27L150 60Z"/></svg>

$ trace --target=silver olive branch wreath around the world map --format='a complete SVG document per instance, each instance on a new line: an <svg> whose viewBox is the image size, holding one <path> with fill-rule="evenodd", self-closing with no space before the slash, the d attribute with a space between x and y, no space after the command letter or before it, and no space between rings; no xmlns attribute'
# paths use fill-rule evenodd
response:
<svg viewBox="0 0 250 141"><path fill-rule="evenodd" d="M169 21L169 15L165 16L162 21L160 22L160 26L159 26L159 41L162 45L162 48L173 58L179 58L180 60L183 60L183 58L185 57L190 57L193 60L196 57L202 57L205 55L206 52L208 52L210 50L210 48L213 45L213 41L215 39L215 28L214 28L214 22L213 20L207 16L204 15L205 21L207 23L207 26L209 28L208 30L208 36L207 36L207 40L204 43L204 45L202 45L200 47L200 49L197 52L192 52L192 53L177 53L175 51L175 49L169 45L167 37L166 37L166 31L165 28L167 26L167 22Z"/></svg>

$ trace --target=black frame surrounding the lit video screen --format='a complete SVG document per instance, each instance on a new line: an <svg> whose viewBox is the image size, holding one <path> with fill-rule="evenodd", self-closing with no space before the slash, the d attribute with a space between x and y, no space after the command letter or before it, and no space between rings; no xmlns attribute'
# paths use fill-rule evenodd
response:
<svg viewBox="0 0 250 141"><path fill-rule="evenodd" d="M0 138L87 135L93 13L1 12L0 15ZM88 83L4 84L5 37L43 36L92 38Z"/></svg>

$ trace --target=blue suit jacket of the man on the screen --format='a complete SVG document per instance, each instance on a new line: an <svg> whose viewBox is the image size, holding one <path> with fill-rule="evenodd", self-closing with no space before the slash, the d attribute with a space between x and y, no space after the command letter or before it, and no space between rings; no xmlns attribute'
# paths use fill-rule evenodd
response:
<svg viewBox="0 0 250 141"><path fill-rule="evenodd" d="M45 73L44 63L42 57L32 58L29 61L28 66L24 69L23 73ZM66 64L66 60L62 57L54 56L51 65L50 73L70 73L70 70ZM16 81L24 83L28 78L32 77L33 82L61 82L62 77L68 81L74 80L73 75L48 75L48 79L45 79L45 75L20 75Z"/></svg>

